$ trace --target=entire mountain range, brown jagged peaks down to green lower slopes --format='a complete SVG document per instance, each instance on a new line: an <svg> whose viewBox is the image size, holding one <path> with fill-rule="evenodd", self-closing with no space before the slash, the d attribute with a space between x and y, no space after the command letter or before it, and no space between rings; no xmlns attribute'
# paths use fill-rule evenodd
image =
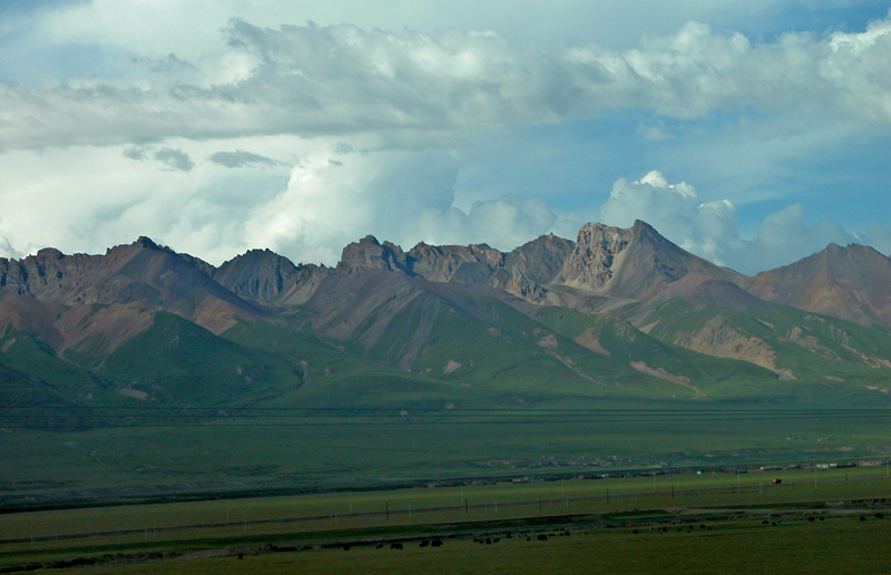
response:
<svg viewBox="0 0 891 575"><path fill-rule="evenodd" d="M639 221L507 253L365 236L334 267L268 250L214 266L139 237L0 259L0 417L371 394L885 401L890 330L891 259L862 245L746 276Z"/></svg>

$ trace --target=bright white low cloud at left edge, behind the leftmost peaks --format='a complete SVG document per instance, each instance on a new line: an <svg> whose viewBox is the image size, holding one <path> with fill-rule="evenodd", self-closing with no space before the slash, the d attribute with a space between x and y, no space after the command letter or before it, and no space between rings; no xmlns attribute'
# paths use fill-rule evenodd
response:
<svg viewBox="0 0 891 575"><path fill-rule="evenodd" d="M265 150L282 142L243 144ZM176 145L184 157L206 157L205 147L218 143ZM0 241L0 248L14 256L46 246L97 253L148 235L218 263L247 247L246 214L287 182L286 168L231 170L199 162L188 172L169 169L154 159L155 152L163 150L70 147L0 155L0 237L9 243L3 248Z"/></svg>

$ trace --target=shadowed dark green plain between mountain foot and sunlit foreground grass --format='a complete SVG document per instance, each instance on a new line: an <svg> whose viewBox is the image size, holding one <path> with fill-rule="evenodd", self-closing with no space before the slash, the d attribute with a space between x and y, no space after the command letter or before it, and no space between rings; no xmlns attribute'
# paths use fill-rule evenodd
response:
<svg viewBox="0 0 891 575"><path fill-rule="evenodd" d="M356 396L354 403L362 400ZM549 405L544 412L527 412L515 403L487 411L482 420L472 410L419 408L407 415L284 411L260 420L225 417L65 433L7 429L0 431L0 460L9 464L0 471L0 503L10 508L392 488L654 466L881 459L891 452L891 423L882 411L745 410L738 402L732 410L693 402L668 409L653 401L566 398ZM586 405L596 408L585 410Z"/></svg>

